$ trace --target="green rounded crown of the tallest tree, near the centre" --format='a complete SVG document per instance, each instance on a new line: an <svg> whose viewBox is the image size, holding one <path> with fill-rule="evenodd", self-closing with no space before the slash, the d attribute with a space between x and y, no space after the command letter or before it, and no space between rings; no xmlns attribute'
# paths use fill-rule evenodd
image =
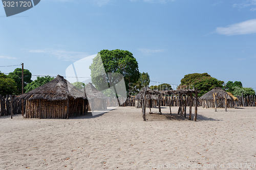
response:
<svg viewBox="0 0 256 170"><path fill-rule="evenodd" d="M99 54L93 59L93 63L89 67L92 82L98 90L109 88L118 83L122 78L120 74L124 77L126 91L129 90L130 82L136 83L138 81L140 77L138 62L131 52L101 50ZM109 72L112 74L108 74Z"/></svg>

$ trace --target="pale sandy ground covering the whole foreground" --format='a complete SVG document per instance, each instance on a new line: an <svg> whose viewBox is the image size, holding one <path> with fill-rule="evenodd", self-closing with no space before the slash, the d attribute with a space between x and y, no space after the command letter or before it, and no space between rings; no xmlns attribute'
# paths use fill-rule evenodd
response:
<svg viewBox="0 0 256 170"><path fill-rule="evenodd" d="M0 169L256 169L255 107L199 108L198 122L177 110L162 107L146 122L134 107L70 119L0 117Z"/></svg>

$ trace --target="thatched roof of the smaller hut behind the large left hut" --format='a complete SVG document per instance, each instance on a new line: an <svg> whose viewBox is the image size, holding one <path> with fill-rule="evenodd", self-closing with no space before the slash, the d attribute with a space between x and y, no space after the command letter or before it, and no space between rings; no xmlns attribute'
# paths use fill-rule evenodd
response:
<svg viewBox="0 0 256 170"><path fill-rule="evenodd" d="M86 96L89 100L91 99L108 99L102 92L97 90L92 83L88 83L86 87L82 89L84 91L86 89Z"/></svg>

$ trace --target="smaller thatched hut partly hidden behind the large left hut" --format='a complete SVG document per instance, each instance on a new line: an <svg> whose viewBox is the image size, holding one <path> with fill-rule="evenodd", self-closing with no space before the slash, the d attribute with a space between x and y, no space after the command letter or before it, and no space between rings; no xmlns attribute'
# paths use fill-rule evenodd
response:
<svg viewBox="0 0 256 170"><path fill-rule="evenodd" d="M86 90L86 95L89 101L89 110L106 109L107 96L97 90L92 83L88 83L84 89ZM84 89L82 91L84 91Z"/></svg>

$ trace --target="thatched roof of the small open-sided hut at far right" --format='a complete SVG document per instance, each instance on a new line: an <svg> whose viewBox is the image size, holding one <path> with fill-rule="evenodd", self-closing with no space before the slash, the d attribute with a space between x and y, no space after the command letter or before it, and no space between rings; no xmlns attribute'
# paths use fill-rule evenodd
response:
<svg viewBox="0 0 256 170"><path fill-rule="evenodd" d="M221 87L215 87L214 89L208 91L207 93L205 93L204 95L201 96L201 98L199 98L199 100L206 100L206 101L210 101L210 100L214 100L214 93L217 93L216 95L216 99L225 99L225 95L227 95L227 99L230 100L231 97L228 95L228 93L224 90L222 90Z"/></svg>

